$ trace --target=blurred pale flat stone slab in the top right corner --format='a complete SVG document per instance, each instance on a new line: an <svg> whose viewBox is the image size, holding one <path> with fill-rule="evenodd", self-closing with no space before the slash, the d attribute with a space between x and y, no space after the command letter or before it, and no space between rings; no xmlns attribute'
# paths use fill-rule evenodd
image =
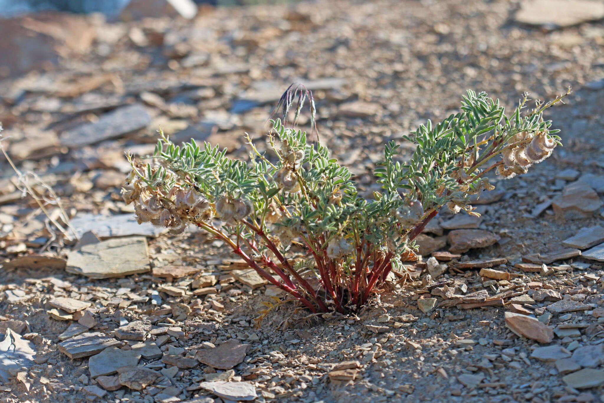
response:
<svg viewBox="0 0 604 403"><path fill-rule="evenodd" d="M604 18L604 4L591 0L524 0L515 19L553 29Z"/></svg>

